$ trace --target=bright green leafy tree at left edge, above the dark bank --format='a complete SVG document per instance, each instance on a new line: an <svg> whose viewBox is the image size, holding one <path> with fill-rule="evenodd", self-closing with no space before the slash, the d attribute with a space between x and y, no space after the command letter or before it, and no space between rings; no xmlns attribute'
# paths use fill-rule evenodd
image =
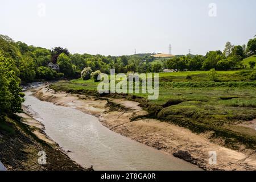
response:
<svg viewBox="0 0 256 182"><path fill-rule="evenodd" d="M5 114L20 112L21 104L24 101L24 94L21 93L20 79L14 70L13 59L0 55L0 120Z"/></svg>

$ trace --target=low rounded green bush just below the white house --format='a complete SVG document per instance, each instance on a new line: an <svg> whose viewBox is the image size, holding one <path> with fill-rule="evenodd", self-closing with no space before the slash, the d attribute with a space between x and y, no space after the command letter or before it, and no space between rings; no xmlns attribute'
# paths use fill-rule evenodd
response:
<svg viewBox="0 0 256 182"><path fill-rule="evenodd" d="M54 80L57 77L59 77L59 74L51 68L39 67L36 69L36 78L38 79Z"/></svg>

